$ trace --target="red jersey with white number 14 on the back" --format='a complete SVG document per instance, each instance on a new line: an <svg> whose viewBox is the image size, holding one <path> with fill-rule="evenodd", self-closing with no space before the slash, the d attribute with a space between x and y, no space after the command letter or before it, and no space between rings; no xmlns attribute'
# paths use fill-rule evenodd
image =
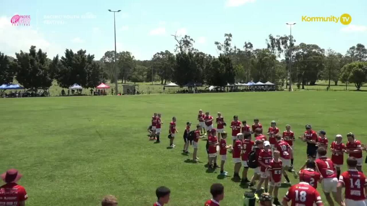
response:
<svg viewBox="0 0 367 206"><path fill-rule="evenodd" d="M364 187L367 187L366 176L356 169L349 169L341 174L339 183L345 186L345 199L365 200Z"/></svg>

